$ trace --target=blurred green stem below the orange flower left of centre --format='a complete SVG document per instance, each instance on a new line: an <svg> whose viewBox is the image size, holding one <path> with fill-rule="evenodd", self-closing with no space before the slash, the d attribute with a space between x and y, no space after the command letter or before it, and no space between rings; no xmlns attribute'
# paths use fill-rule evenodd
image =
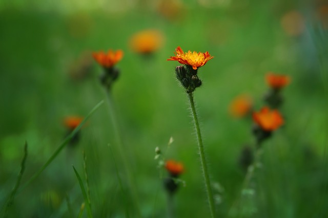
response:
<svg viewBox="0 0 328 218"><path fill-rule="evenodd" d="M113 103L110 89L107 90L107 99L108 99L109 113L110 113L112 125L114 128L114 134L116 137L118 151L120 153L120 157L121 157L121 160L123 162L123 165L124 165L124 168L125 168L125 171L127 174L127 180L128 180L128 184L131 188L132 198L133 198L133 202L136 207L135 209L137 212L137 216L141 217L140 210L139 210L139 200L138 200L138 195L136 192L136 185L135 185L135 181L132 178L131 167L127 160L125 150L123 149L123 142L122 142L121 134L120 134L119 127L118 127L118 122L117 122L117 119L115 116L115 108L114 108L114 103Z"/></svg>

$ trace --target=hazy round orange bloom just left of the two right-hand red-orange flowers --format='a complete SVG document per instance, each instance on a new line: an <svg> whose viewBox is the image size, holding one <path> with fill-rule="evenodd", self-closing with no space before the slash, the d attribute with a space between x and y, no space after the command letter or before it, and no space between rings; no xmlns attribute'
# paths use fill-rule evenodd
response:
<svg viewBox="0 0 328 218"><path fill-rule="evenodd" d="M253 101L248 95L236 97L230 104L229 111L234 117L243 117L252 110Z"/></svg>

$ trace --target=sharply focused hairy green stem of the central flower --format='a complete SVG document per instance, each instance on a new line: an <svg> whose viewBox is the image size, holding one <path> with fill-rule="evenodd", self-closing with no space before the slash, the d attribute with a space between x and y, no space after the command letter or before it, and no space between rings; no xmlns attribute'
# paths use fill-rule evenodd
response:
<svg viewBox="0 0 328 218"><path fill-rule="evenodd" d="M215 216L214 215L215 214L214 199L213 199L211 182L210 182L209 172L208 172L208 168L207 168L205 153L204 153L204 146L203 146L203 142L201 139L200 128L199 128L198 118L197 118L196 109L195 109L193 93L188 93L188 99L189 99L192 115L194 118L194 124L195 124L196 133L197 133L199 156L200 156L200 162L201 162L201 169L203 171L203 177L204 177L204 181L205 181L207 197L208 197L208 201L209 201L209 205L210 205L211 217L213 218Z"/></svg>

